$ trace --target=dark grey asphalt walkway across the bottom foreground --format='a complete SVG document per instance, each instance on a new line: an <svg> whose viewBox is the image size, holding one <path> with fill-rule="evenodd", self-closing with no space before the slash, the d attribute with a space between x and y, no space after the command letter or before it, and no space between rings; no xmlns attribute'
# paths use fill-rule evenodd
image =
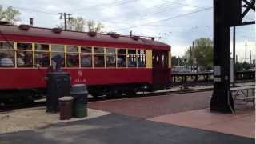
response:
<svg viewBox="0 0 256 144"><path fill-rule="evenodd" d="M0 134L1 144L253 144L253 138L109 114L39 130Z"/></svg>

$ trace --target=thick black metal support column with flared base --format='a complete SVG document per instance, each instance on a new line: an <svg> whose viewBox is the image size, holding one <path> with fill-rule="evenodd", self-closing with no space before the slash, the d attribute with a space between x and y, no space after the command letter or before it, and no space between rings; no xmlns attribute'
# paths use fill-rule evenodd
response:
<svg viewBox="0 0 256 144"><path fill-rule="evenodd" d="M230 94L230 26L228 1L214 0L214 93L210 110L234 112L234 100Z"/></svg>

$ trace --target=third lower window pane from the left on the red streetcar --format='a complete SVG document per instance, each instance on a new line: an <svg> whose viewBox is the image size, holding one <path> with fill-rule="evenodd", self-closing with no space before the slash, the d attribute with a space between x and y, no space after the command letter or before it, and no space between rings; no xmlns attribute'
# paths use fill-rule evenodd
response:
<svg viewBox="0 0 256 144"><path fill-rule="evenodd" d="M35 51L34 62L37 67L48 67L50 65L49 52Z"/></svg>

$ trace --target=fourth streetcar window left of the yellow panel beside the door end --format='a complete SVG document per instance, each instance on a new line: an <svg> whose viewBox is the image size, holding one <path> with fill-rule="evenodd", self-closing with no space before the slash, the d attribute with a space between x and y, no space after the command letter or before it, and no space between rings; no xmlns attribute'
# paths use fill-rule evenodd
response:
<svg viewBox="0 0 256 144"><path fill-rule="evenodd" d="M106 48L106 67L116 66L115 48Z"/></svg>

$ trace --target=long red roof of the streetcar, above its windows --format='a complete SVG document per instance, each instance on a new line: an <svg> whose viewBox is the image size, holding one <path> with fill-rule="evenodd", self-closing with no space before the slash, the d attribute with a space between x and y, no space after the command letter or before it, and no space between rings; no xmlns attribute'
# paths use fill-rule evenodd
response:
<svg viewBox="0 0 256 144"><path fill-rule="evenodd" d="M80 42L87 42L92 46L107 45L125 48L149 48L157 50L170 50L170 46L163 42L158 42L146 38L138 38L138 40L134 40L134 38L130 38L130 36L123 35L120 35L120 37L118 38L113 38L108 34L96 34L94 37L92 37L88 34L88 32L78 32L69 30L62 30L62 32L58 34L54 33L52 29L47 28L30 27L29 30L22 30L20 29L19 26L11 25L0 25L0 32L4 34L9 41L26 41L26 38L30 39L31 37L33 37L33 40L35 42L37 42L40 39L40 42L44 41L50 43L58 43L61 39L62 44L66 44L66 42L69 43L69 40L73 40L72 42L76 42L78 44ZM22 36L26 38L22 38ZM19 40L17 38L21 39ZM76 43L74 43L74 45Z"/></svg>

